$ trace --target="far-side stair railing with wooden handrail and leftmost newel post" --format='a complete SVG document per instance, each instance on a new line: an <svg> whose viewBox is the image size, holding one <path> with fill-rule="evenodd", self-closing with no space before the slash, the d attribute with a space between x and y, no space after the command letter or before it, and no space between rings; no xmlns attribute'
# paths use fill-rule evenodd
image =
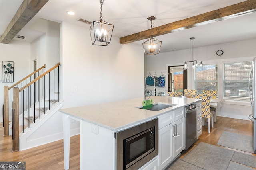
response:
<svg viewBox="0 0 256 170"><path fill-rule="evenodd" d="M12 90L12 100L13 100L13 88L15 86L16 87L20 86L20 88L22 88L24 83L25 83L25 85L27 84L28 78L29 78L28 81L31 82L31 76L33 76L36 73L38 73L38 75L39 75L39 71L40 70L43 71L43 68L45 68L45 67L46 67L46 65L44 64L44 66L38 68L36 71L34 71L31 74L29 74L28 76L22 78L20 81L16 82L15 84L13 84L10 87L4 86L4 105L3 105L4 136L8 136L9 135L9 90ZM14 106L12 105L12 109L13 109L13 107Z"/></svg>

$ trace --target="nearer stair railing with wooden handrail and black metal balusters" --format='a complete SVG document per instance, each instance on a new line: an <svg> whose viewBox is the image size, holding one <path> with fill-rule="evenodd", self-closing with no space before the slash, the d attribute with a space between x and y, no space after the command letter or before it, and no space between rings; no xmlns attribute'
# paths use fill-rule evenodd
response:
<svg viewBox="0 0 256 170"><path fill-rule="evenodd" d="M48 90L49 90L49 96L48 96L49 108L48 109L50 109L50 92L52 92L53 96L55 96L54 95L55 94L55 81L57 81L57 83L58 83L58 85L57 85L58 100L57 101L59 102L59 77L60 77L59 66L60 66L60 62L20 89L18 87L14 87L15 98L13 100L13 106L14 106L15 110L14 110L14 122L12 124L14 124L13 127L14 127L15 137L13 140L12 150L19 150L19 145L17 143L19 142L19 113L20 113L19 109L20 109L20 107L18 105L21 104L23 106L23 107L21 107L21 114L22 114L22 131L24 132L24 112L26 111L24 109L24 107L25 106L28 107L28 109L27 109L28 110L28 119L29 119L28 127L30 127L30 107L32 107L32 104L30 103L30 99L32 96L35 96L35 94L36 94L36 92L35 92L36 91L35 86L37 86L36 84L38 84L38 105L39 105L39 117L38 118L40 118L41 111L44 114L46 112L46 91L48 91ZM57 79L55 78L55 69L56 68L58 68L58 78ZM53 72L53 74L54 74L52 81L50 79L51 72ZM46 76L48 76L49 79L46 79ZM46 80L48 81L49 86L46 86ZM51 84L53 84L53 85L51 86ZM48 90L46 90L46 88L48 88ZM32 90L32 92L31 92L31 89L34 89L34 90ZM44 101L43 101L44 107L41 110L41 99L42 98L44 98ZM20 100L21 100L21 102L20 102ZM28 102L26 102L26 101L28 101ZM55 104L55 98L54 98L53 103ZM32 117L32 120L35 122L35 120L36 120L36 117L35 117L36 102L35 102L35 100L34 100L33 107L34 107L34 117Z"/></svg>

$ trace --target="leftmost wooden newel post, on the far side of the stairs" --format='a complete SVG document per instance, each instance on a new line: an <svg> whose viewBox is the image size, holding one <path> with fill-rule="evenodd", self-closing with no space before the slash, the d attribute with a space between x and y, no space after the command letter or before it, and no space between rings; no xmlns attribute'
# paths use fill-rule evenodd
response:
<svg viewBox="0 0 256 170"><path fill-rule="evenodd" d="M4 86L4 136L9 135L9 87Z"/></svg>

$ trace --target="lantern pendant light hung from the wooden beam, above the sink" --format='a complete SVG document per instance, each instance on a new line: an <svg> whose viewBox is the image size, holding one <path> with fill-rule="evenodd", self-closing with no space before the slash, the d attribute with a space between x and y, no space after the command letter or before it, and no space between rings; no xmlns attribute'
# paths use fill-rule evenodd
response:
<svg viewBox="0 0 256 170"><path fill-rule="evenodd" d="M144 49L144 54L146 54L146 55L159 54L160 48L162 45L162 41L159 41L159 40L153 38L152 20L155 20L156 17L151 16L151 17L148 17L147 19L151 21L151 38L148 39L147 41L145 41L144 43L142 43L143 49Z"/></svg>

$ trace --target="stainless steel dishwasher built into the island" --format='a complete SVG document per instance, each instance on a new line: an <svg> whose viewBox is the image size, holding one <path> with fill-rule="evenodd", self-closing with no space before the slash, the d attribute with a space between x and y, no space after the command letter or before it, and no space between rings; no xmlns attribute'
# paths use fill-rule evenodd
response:
<svg viewBox="0 0 256 170"><path fill-rule="evenodd" d="M196 142L196 104L185 107L185 150Z"/></svg>

